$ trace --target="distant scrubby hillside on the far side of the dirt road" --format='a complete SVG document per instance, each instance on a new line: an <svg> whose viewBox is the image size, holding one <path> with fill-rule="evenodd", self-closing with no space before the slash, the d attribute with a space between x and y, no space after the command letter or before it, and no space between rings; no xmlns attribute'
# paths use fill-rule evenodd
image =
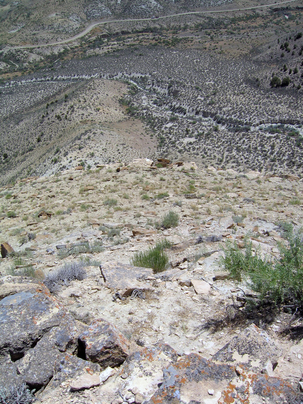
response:
<svg viewBox="0 0 303 404"><path fill-rule="evenodd" d="M10 39L26 41L27 35L33 40L39 38L63 39L76 34L90 21L106 18L155 17L165 14L200 10L206 7L225 6L232 0L65 0L0 2L1 43ZM43 39L42 39L43 40Z"/></svg>

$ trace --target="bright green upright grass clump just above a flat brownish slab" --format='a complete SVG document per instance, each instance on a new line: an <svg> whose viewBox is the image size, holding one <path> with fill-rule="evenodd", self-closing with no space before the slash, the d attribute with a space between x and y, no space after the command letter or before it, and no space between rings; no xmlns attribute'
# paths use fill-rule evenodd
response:
<svg viewBox="0 0 303 404"><path fill-rule="evenodd" d="M135 267L152 268L154 272L165 271L168 267L169 259L164 249L170 246L169 241L163 240L146 251L136 252L131 259L131 263Z"/></svg>

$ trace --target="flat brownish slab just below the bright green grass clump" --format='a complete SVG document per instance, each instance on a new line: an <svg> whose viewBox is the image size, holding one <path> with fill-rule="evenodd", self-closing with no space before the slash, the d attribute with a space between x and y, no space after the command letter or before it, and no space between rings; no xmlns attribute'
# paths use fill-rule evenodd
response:
<svg viewBox="0 0 303 404"><path fill-rule="evenodd" d="M130 295L134 289L153 290L148 283L139 280L141 277L154 275L150 268L133 267L111 261L100 265L100 270L105 286L113 291L120 291L124 297Z"/></svg>

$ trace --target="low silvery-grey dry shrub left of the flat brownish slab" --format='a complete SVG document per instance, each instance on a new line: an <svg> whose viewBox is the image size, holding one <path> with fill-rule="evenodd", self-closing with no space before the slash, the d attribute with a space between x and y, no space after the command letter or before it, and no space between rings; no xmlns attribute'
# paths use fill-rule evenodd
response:
<svg viewBox="0 0 303 404"><path fill-rule="evenodd" d="M82 261L65 264L58 271L49 273L44 279L44 284L51 293L56 293L61 286L68 286L72 280L85 279L86 272L83 267Z"/></svg>

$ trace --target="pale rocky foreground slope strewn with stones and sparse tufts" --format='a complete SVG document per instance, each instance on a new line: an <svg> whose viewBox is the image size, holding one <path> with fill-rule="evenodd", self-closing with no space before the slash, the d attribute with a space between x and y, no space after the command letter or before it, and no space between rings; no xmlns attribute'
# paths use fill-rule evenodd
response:
<svg viewBox="0 0 303 404"><path fill-rule="evenodd" d="M1 388L26 403L299 404L299 307L247 310L260 295L223 258L250 245L252 262L282 260L301 192L295 175L164 159L3 187ZM155 247L164 270L136 266Z"/></svg>

